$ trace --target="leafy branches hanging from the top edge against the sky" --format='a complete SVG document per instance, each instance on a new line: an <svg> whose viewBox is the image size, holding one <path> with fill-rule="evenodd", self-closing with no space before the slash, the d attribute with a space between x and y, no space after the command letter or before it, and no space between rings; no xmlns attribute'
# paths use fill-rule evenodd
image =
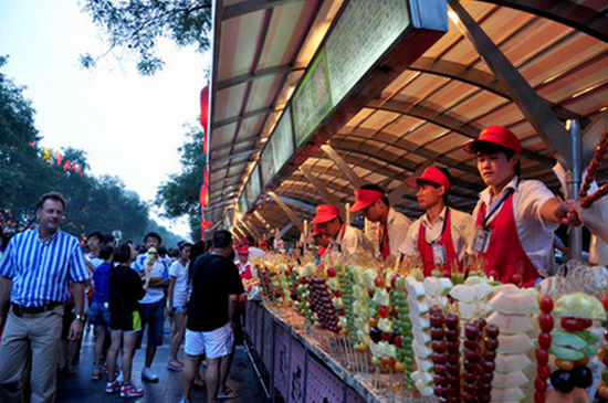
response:
<svg viewBox="0 0 608 403"><path fill-rule="evenodd" d="M165 62L156 55L158 40L167 38L179 46L196 45L202 53L209 47L211 0L85 0L84 11L102 29L111 51L122 47L137 55L137 70L151 75ZM123 53L120 52L120 53ZM95 57L81 56L84 67Z"/></svg>

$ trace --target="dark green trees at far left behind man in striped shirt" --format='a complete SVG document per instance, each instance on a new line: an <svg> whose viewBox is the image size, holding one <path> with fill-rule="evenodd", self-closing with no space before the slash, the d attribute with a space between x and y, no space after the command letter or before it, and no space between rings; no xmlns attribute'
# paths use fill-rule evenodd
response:
<svg viewBox="0 0 608 403"><path fill-rule="evenodd" d="M6 62L0 56L0 67ZM81 237L114 230L120 230L124 238L145 235L148 206L135 192L126 191L117 178L88 176L83 150L62 150L64 160L77 163L83 174L46 162L38 140L34 109L23 97L23 87L0 74L0 226L32 224L38 198L59 191L67 199L64 231Z"/></svg>

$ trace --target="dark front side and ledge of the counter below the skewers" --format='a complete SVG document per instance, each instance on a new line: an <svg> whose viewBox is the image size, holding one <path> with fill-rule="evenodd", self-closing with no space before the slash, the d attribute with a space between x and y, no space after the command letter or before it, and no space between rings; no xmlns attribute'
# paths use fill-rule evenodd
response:
<svg viewBox="0 0 608 403"><path fill-rule="evenodd" d="M332 346L334 333L307 327L291 308L248 301L244 324L249 348L266 371L268 377L262 377L265 389L276 389L274 393L285 402L424 402L410 391L399 391L402 374L349 371L342 361L344 350L337 352L338 342ZM367 358L355 353L359 360ZM395 390L386 388L391 378Z"/></svg>

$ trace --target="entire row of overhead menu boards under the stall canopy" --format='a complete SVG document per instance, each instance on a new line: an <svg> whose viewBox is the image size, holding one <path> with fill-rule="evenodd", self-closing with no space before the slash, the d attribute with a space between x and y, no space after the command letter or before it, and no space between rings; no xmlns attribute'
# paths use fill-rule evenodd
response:
<svg viewBox="0 0 608 403"><path fill-rule="evenodd" d="M409 1L348 2L283 112L245 185L250 206L296 149L411 25Z"/></svg>

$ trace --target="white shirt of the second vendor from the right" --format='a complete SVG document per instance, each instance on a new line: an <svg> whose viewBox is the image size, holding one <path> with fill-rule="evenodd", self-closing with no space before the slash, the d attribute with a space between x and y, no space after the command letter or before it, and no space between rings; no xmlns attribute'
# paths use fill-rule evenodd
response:
<svg viewBox="0 0 608 403"><path fill-rule="evenodd" d="M420 233L420 225L424 226L424 238L428 243L441 237L441 231L443 230L443 222L445 221L447 212L448 208L443 208L441 213L432 223L429 221L428 213L422 214L418 220L416 220L413 225L411 225L408 230L406 241L401 244L400 252L410 256L415 256L419 253L418 235ZM474 232L475 221L471 214L450 209L450 226L454 251L458 254L459 261L462 263L467 256L471 233Z"/></svg>

